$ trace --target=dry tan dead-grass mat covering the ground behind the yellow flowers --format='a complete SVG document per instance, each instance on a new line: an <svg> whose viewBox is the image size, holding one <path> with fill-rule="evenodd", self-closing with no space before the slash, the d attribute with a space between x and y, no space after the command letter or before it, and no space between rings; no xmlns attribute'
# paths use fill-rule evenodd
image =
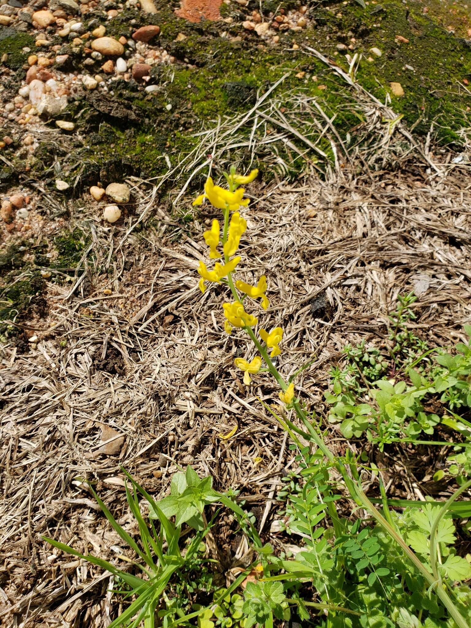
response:
<svg viewBox="0 0 471 628"><path fill-rule="evenodd" d="M14 230L0 225L8 278L0 299L14 296L23 307L18 316L7 308L0 345L2 626L101 627L116 617L109 575L51 549L41 535L119 561L126 549L85 480L137 533L122 468L163 497L173 473L190 464L212 475L216 489L241 491L264 541L278 548L289 541L271 523L281 477L296 463L259 402L276 403L278 391L267 374L251 389L242 385L234 357L249 357L250 347L242 334L224 332L224 286L204 295L197 286L198 261L206 259L202 232L217 214L209 205L195 213L193 188L209 172L218 178L234 154L244 171L254 163L261 170L247 187L245 278L268 278L271 305L261 322L285 329L283 374L312 360L296 385L318 416L327 416L323 393L330 368L344 364L346 344L365 340L386 351L398 295L415 291L409 327L430 347L464 339L471 320L465 130L460 145L435 141L433 126L428 135L414 134L391 99L378 100L332 58L305 51L349 90L361 145L347 144L305 93L290 92L290 107L275 115L278 95L266 87L245 117L207 124L195 152L165 175L121 168L131 199L115 224L102 220L103 203L82 183L66 195L51 192L53 165L47 185L33 177L6 181L5 197L28 196L29 215ZM262 131L247 139L239 136L242 126ZM311 141L313 128L322 144ZM57 154L77 149L51 126L28 133ZM313 157L321 145L328 160ZM287 155L296 168L303 163L295 176ZM104 161L109 170L109 155ZM221 438L235 426L232 438ZM338 428L330 426L326 437L344 453ZM364 443L350 447L360 452ZM443 499L448 486L432 475L446 450L394 445L372 461L387 462L389 497ZM374 477L370 489L377 494ZM215 541L228 571L246 549L231 534L226 517ZM467 541L463 547L468 551Z"/></svg>

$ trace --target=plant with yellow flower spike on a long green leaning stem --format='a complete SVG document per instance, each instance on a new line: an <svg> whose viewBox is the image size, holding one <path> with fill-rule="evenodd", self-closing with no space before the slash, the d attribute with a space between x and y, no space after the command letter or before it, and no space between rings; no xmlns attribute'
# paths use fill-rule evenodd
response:
<svg viewBox="0 0 471 628"><path fill-rule="evenodd" d="M292 380L295 379L297 374L304 371L310 363L301 367L288 381L286 381L283 374L274 364L273 358L278 356L280 356L280 360L283 362L283 328L279 326L268 328L258 327L258 317L264 316L266 310L269 308L269 299L266 295L266 276L262 275L257 278L254 285L246 283L242 279L234 279L234 273L239 271L242 261L242 255L239 249L241 246L241 237L247 230L247 221L244 215L246 215L249 205L249 199L245 197L245 189L241 186L254 181L257 174L258 170L252 170L249 175L238 175L236 168L232 166L229 173L224 174L225 180L227 181L227 188L214 185L212 178L208 177L204 186L204 192L193 202L193 205L201 205L205 200L208 200L213 207L222 212L222 224L219 220L214 219L211 228L203 233L203 237L209 249L208 263L200 262L198 268L198 274L200 275L198 285L202 293L205 293L208 289L208 284L211 283L227 286L228 299L222 303L225 332L232 333L234 329L242 330L249 335L254 344L254 354L249 355L248 360L239 357L234 360L236 368L244 373L244 384L250 386L253 376L257 376L259 372L268 371L279 386L279 399L286 410L284 418L281 418L281 416L275 413L273 406L264 404L264 407L274 414L284 430L288 431L291 440L295 443L295 447L301 452L301 457L305 458L306 468L304 475L306 479L309 478L308 484L317 486L316 494L314 495L314 493L312 493L313 500L310 502L308 509L309 516L301 517L301 520L304 522L301 524L301 533L306 538L311 534L311 541L313 547L315 547L315 543L317 543L315 539L317 539L320 534L323 534L323 530L319 529L314 531L307 526L306 522L311 521L311 514L322 518L325 512L332 521L333 535L335 539L337 539L335 541L336 546L340 547L347 537L345 536L345 519L339 516L335 502L337 499L342 499L342 497L349 499L354 504L354 511L357 508L363 509L365 513L364 518L369 518L372 522L376 523L377 526L380 526L382 533L386 534L387 538L389 538L393 544L396 544L399 551L406 559L407 564L411 566L414 574L417 574L418 577L421 578L424 591L423 597L430 596L438 598L441 606L447 609L449 617L449 622L446 624L447 628L448 626L450 628L468 628L468 618L464 616L467 614L467 611L463 611L463 606L460 605L460 601L457 595L455 595L455 589L453 588L453 582L460 580L460 578L456 577L456 569L455 571L450 569L450 571L447 572L448 561L450 561L451 568L455 563L458 564L457 558L459 557L453 555L451 558L447 558L445 565L441 564L441 528L439 524L448 509L452 506L453 501L455 501L464 490L467 490L468 487L471 486L471 480L463 484L460 489L443 504L443 507L437 509L436 512L431 512L430 530L427 531L428 539L425 538L425 534L420 533L420 547L417 542L419 538L417 533L415 533L415 536L413 533L409 534L409 536L403 534L401 528L391 516L384 487L382 487L383 509L381 512L372 504L362 489L362 478L354 454L350 452L348 448L343 457L338 457L332 452L323 439L322 431L320 431L320 423L315 421L315 416L308 414L305 404L303 404L303 401L298 396L295 382ZM283 365L281 365L281 369L282 368ZM302 429L299 425L295 425L295 423L290 420L290 411L293 411L297 416L298 420L301 422ZM302 436L304 443L306 443L306 441L309 443L309 447L305 447L305 444L301 442L298 435ZM311 453L313 448L315 448L315 452ZM339 481L339 479L341 479L341 481ZM344 495L335 494L340 488L343 489ZM318 522L318 519L315 518L313 521ZM368 531L360 534L368 534ZM320 543L323 544L323 547L325 546L325 548L327 548L326 539L323 539ZM374 571L376 569L376 563L382 560L382 557L377 558L377 560L375 559L376 562L373 560L377 551L379 551L379 545L373 545L370 548L365 541L365 549L362 549L358 543L355 544L352 539L350 539L349 543L353 543L352 548L354 548L354 553L352 556L354 556L354 559L357 560L360 554L362 556L363 562L360 561L361 569L367 568L371 570L371 573L369 573L367 577L369 587L377 583L378 577L385 577L389 574L389 568L378 568ZM374 543L374 541L371 540L369 543ZM365 556L367 556L367 558L365 558ZM371 560L369 556L372 557ZM312 557L308 556L308 558ZM346 555L342 556L340 549L338 549L336 560L337 568L342 568L343 565L348 566L350 564L350 555L347 552ZM462 560L460 560L460 568L462 568L463 564ZM318 562L315 563L315 565L316 569L322 566L321 563ZM302 573L305 573L306 565L303 564L301 566L303 568ZM296 560L292 565L289 561L283 562L283 569L288 571L295 570L296 568L300 569L301 566L299 561L296 562ZM264 580L278 580L281 578L284 578L284 576L273 578L264 577ZM329 598L330 594L328 593L327 580L325 580L325 578L322 582L321 580L321 588L325 589L327 602L329 604L328 607L330 608L327 622L328 628L334 628L334 626L337 627L337 625L340 624L348 625L349 627L352 626L351 622L344 624L344 619L340 620L340 624L336 623L334 615L340 611L357 615L359 615L359 613L357 613L356 610L350 609L350 611L347 611L347 609L340 609L340 607L332 605L333 600ZM274 583L267 582L263 585L266 589L259 587L257 590L254 588L254 591L249 589L247 585L246 602L244 603L244 612L247 612L250 616L250 620L247 620L247 625L257 623L259 625L265 624L268 628L273 626L273 614L278 616L278 605L281 603L281 600L284 599L283 591L280 588L279 600L277 598L274 600L273 604L270 605L271 601L273 601L271 600L272 593L278 595L278 590L274 590L273 584ZM276 585L276 587L279 588L279 584ZM430 603L432 604L432 601ZM308 603L306 602L305 604ZM435 604L435 602L433 602L433 604ZM315 603L310 603L310 605L315 605ZM277 612L275 612L275 610ZM409 613L405 608L398 610L399 614L401 612L403 615L404 613ZM384 618L384 623L379 624L375 624L374 621L372 622L370 619L369 612L364 612L360 617L359 625L363 628L379 628L380 625L382 628L383 625L385 627L386 625L396 625L393 624L391 618ZM435 628L436 624L430 624L428 619L428 624L425 624L427 628L428 626ZM394 618L394 620L396 619ZM402 621L401 619L401 622ZM412 617L412 623L401 622L397 625L404 625L404 627L411 625L411 627L420 628L422 625L421 612L420 617Z"/></svg>

